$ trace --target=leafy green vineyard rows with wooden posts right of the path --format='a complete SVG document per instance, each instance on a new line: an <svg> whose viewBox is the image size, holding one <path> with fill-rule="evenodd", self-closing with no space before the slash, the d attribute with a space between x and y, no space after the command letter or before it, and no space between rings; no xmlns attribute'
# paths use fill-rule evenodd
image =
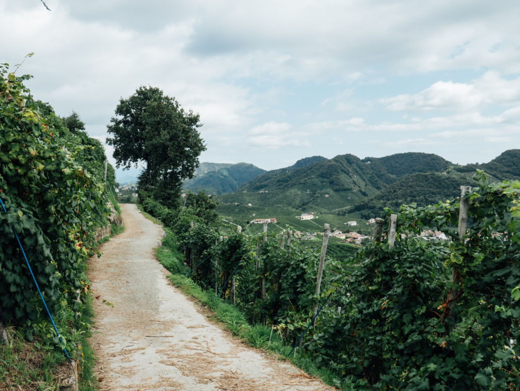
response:
<svg viewBox="0 0 520 391"><path fill-rule="evenodd" d="M337 387L518 389L520 184L473 179L457 199L402 206L394 220L387 209L374 242L346 260L329 257L327 229L316 251L296 245L291 228L223 235L201 205L170 211L149 198L142 208L168 221L163 243L183 254L163 264L177 282L188 275L275 329L281 354L326 369ZM450 240L423 241L423 229Z"/></svg>

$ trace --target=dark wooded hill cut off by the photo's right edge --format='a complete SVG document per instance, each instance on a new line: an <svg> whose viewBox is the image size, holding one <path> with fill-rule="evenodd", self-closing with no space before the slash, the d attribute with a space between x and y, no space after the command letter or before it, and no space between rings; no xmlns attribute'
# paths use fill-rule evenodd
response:
<svg viewBox="0 0 520 391"><path fill-rule="evenodd" d="M520 149L508 149L489 163L454 168L455 171L467 175L473 175L477 169L484 170L499 181L520 180Z"/></svg>

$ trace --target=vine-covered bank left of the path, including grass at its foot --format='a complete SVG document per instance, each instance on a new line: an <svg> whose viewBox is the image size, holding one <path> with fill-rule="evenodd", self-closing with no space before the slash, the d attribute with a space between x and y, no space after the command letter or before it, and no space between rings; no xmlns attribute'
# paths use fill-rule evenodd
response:
<svg viewBox="0 0 520 391"><path fill-rule="evenodd" d="M62 119L34 100L23 84L29 78L0 65L0 343L7 342L4 324L12 338L0 344L2 389L7 378L27 387L44 382L42 376L53 383L47 371L66 357L81 358L90 328L83 317L86 261L95 254L98 229L110 226L119 208L101 143L82 123L70 125L75 117ZM34 343L23 347L22 336ZM45 358L34 372L32 361L18 362L32 349Z"/></svg>

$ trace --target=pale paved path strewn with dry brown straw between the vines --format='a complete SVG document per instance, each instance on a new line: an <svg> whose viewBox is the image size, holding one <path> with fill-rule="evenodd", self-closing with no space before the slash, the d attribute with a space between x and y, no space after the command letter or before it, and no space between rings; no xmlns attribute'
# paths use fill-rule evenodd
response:
<svg viewBox="0 0 520 391"><path fill-rule="evenodd" d="M89 263L94 294L101 295L92 344L102 390L332 390L207 320L154 257L161 227L133 204L121 210L126 230Z"/></svg>

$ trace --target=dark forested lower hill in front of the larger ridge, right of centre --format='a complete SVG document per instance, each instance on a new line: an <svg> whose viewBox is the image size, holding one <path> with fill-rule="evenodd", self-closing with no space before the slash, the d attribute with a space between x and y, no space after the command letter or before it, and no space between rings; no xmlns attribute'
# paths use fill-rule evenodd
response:
<svg viewBox="0 0 520 391"><path fill-rule="evenodd" d="M370 219L380 216L384 208L397 211L403 204L433 205L460 196L462 185L475 186L475 181L437 172L414 173L354 205L349 212L360 212L356 214L363 219Z"/></svg>

